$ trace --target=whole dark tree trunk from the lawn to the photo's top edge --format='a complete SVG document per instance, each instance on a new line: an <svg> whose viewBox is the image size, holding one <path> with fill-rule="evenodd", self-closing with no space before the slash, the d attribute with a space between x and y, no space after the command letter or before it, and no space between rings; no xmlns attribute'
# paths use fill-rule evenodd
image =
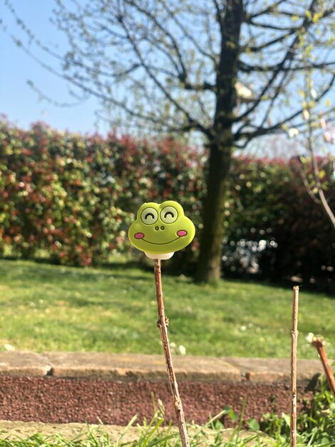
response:
<svg viewBox="0 0 335 447"><path fill-rule="evenodd" d="M217 281L221 276L225 196L234 141L232 123L236 106L235 82L243 15L243 0L226 0L225 8L217 6L221 51L215 85L215 117L210 136L210 166L203 212L204 228L196 276L199 282Z"/></svg>

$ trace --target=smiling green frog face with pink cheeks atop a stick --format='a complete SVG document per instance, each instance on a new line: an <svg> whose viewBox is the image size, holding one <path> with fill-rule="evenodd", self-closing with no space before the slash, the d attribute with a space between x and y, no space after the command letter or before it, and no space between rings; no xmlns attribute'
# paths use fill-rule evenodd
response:
<svg viewBox="0 0 335 447"><path fill-rule="evenodd" d="M195 236L195 226L184 215L182 206L169 200L158 205L143 204L130 225L130 242L147 253L170 253L185 248Z"/></svg>

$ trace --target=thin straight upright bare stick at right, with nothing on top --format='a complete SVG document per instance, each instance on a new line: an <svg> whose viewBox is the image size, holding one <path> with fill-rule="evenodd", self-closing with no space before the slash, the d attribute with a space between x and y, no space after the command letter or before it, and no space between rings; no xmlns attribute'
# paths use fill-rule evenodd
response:
<svg viewBox="0 0 335 447"><path fill-rule="evenodd" d="M291 331L291 422L289 445L297 447L297 341L298 341L299 286L293 288Z"/></svg>

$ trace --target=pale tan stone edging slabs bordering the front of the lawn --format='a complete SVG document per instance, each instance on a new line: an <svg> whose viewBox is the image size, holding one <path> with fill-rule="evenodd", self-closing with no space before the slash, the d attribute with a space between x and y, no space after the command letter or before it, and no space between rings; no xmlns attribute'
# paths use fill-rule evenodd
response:
<svg viewBox="0 0 335 447"><path fill-rule="evenodd" d="M180 381L289 383L287 358L175 356ZM297 381L306 386L323 373L319 360L298 360ZM113 381L166 381L162 356L92 352L0 353L0 376L102 378Z"/></svg>

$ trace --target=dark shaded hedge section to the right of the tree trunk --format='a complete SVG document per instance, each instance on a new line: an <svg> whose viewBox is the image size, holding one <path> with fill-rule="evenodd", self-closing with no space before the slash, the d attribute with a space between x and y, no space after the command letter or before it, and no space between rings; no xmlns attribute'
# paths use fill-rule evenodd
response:
<svg viewBox="0 0 335 447"><path fill-rule="evenodd" d="M321 206L304 189L296 164L296 160L281 159L233 161L225 211L226 272L247 272L255 254L258 273L263 276L324 278L331 284L335 233ZM331 171L330 166L325 171L324 181L329 184ZM334 187L329 187L328 197L334 206ZM239 256L234 256L236 251Z"/></svg>

